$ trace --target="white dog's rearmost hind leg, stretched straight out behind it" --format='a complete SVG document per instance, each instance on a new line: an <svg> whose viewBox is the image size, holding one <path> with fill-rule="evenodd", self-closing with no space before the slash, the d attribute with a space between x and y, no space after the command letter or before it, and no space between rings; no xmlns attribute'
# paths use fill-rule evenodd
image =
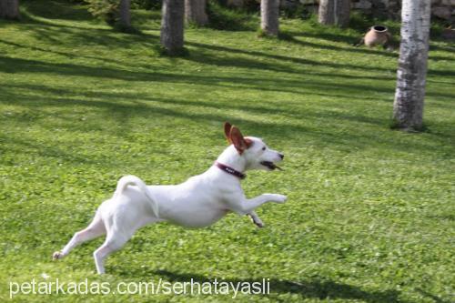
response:
<svg viewBox="0 0 455 303"><path fill-rule="evenodd" d="M96 213L93 221L85 229L79 230L71 238L71 240L66 244L66 246L61 251L56 251L52 258L59 259L64 258L69 252L79 244L86 242L88 240L94 239L101 235L106 234L106 227L103 223L101 217Z"/></svg>

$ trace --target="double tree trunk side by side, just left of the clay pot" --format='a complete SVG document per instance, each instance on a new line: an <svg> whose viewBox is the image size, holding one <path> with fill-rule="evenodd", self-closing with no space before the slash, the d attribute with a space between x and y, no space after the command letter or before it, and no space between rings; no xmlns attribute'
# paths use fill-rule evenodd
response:
<svg viewBox="0 0 455 303"><path fill-rule="evenodd" d="M321 25L349 25L350 0L320 0L319 23Z"/></svg>

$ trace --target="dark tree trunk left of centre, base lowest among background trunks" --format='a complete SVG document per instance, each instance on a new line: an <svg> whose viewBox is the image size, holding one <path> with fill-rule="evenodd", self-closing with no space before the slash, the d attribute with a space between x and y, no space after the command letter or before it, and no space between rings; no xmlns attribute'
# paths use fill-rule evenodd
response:
<svg viewBox="0 0 455 303"><path fill-rule="evenodd" d="M184 0L163 0L161 45L169 55L177 55L183 48Z"/></svg>

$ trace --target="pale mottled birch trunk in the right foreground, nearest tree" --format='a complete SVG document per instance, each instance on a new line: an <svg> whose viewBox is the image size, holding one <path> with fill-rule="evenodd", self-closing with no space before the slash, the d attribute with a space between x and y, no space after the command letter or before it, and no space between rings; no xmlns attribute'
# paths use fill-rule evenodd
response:
<svg viewBox="0 0 455 303"><path fill-rule="evenodd" d="M397 89L393 118L397 128L422 127L430 35L430 0L403 0Z"/></svg>

